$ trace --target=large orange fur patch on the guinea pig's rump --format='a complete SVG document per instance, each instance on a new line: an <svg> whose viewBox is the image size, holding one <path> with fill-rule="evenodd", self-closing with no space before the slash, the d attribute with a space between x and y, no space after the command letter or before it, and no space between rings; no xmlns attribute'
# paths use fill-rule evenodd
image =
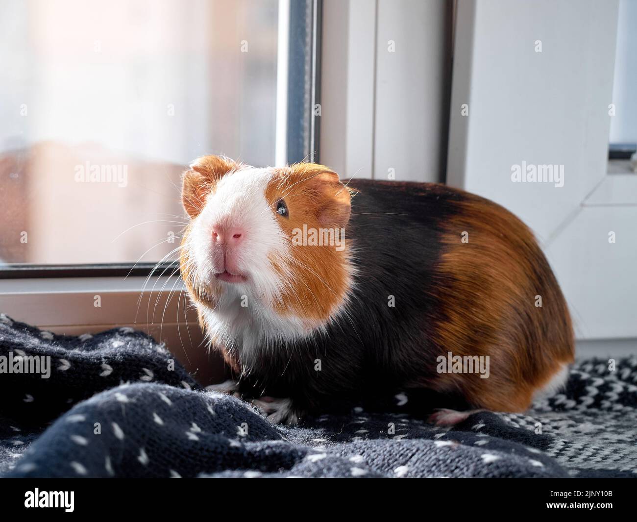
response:
<svg viewBox="0 0 637 522"><path fill-rule="evenodd" d="M458 205L461 212L445 223L434 284L443 303L434 339L441 354L489 355L490 377L447 373L434 386L459 389L476 407L522 411L561 363L573 361L568 308L522 221L478 196Z"/></svg>

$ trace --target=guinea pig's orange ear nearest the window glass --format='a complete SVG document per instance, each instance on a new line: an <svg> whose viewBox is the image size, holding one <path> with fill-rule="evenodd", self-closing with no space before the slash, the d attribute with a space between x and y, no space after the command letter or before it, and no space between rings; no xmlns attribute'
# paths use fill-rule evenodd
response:
<svg viewBox="0 0 637 522"><path fill-rule="evenodd" d="M225 156L201 156L182 177L182 205L190 217L196 217L206 203L206 196L238 163Z"/></svg>

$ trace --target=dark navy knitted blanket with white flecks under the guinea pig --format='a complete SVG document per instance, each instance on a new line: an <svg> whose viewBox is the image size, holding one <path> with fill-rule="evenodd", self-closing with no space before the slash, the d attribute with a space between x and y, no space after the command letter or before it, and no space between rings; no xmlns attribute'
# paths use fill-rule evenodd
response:
<svg viewBox="0 0 637 522"><path fill-rule="evenodd" d="M526 414L442 428L401 393L391 411L287 428L202 389L139 331L65 337L0 315L0 475L636 477L636 384L637 358L591 359Z"/></svg>

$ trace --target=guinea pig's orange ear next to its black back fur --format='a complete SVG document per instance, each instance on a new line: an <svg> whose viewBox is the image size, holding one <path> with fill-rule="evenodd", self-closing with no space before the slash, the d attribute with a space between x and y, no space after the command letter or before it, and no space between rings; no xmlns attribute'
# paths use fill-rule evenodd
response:
<svg viewBox="0 0 637 522"><path fill-rule="evenodd" d="M318 193L317 219L324 228L345 228L350 221L354 191L341 183L338 174L329 170L312 175L308 187Z"/></svg>

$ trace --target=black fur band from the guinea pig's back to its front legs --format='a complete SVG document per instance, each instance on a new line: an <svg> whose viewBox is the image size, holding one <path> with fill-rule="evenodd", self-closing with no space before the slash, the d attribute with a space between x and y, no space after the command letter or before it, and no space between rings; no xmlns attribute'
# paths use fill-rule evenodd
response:
<svg viewBox="0 0 637 522"><path fill-rule="evenodd" d="M276 346L268 351L275 356L246 368L246 395L290 397L300 411L319 405L324 411L436 376L440 349L427 335L440 308L432 286L442 224L457 212L454 202L463 193L437 184L356 180L349 186L359 190L345 230L359 275L348 313L326 334ZM459 404L464 401L450 393L433 406Z"/></svg>

